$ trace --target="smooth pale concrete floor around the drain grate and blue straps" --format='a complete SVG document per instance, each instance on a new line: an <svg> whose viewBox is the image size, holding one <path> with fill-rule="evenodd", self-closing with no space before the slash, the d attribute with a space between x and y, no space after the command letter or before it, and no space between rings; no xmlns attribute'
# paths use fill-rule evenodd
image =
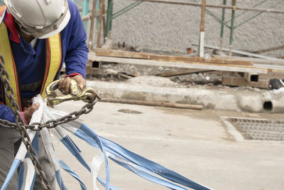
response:
<svg viewBox="0 0 284 190"><path fill-rule="evenodd" d="M65 102L57 107L66 112L79 110L81 102ZM141 114L120 112L135 110ZM255 114L216 110L184 110L98 102L81 118L102 137L111 139L143 157L173 169L187 178L213 189L283 189L284 143L236 142L226 131L221 116L281 119L280 114ZM73 137L88 163L97 154ZM55 152L80 175L88 189L92 178L61 142ZM111 184L120 189L166 189L141 179L114 162L110 163ZM104 177L104 166L99 176ZM68 189L80 189L75 179L62 171ZM100 189L104 189L102 186Z"/></svg>

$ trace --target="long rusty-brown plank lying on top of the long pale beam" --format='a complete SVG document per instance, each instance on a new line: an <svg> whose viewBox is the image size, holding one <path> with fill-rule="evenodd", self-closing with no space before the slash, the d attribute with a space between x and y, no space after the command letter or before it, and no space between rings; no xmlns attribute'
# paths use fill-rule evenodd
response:
<svg viewBox="0 0 284 190"><path fill-rule="evenodd" d="M200 58L200 57L185 57L185 56L165 56L151 53L137 53L133 51L119 51L111 49L97 48L97 56L117 57L117 58L140 58L146 60L170 61L181 63L216 63L229 65L253 65L252 61L233 60L229 58Z"/></svg>

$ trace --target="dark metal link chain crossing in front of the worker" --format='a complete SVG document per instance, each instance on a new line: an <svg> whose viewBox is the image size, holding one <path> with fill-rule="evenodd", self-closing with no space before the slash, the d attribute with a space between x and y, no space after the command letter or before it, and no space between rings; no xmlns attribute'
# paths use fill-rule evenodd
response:
<svg viewBox="0 0 284 190"><path fill-rule="evenodd" d="M43 185L43 188L51 189L48 179L46 178L45 173L43 171L43 167L40 165L40 162L38 161L38 158L36 157L35 150L33 149L33 146L31 144L31 138L28 136L27 129L30 129L33 131L40 131L44 127L54 128L57 125L61 125L66 122L76 120L77 118L80 117L80 115L91 112L94 107L94 104L99 100L99 98L96 97L94 102L87 103L86 105L82 107L81 110L71 112L70 114L64 117L61 117L57 120L49 120L48 122L45 122L45 123L36 122L36 123L33 123L32 125L24 125L24 122L20 115L20 109L18 107L17 102L14 99L13 89L11 88L11 85L9 83L9 75L6 72L5 67L4 67L4 58L3 56L1 56L1 54L0 54L0 79L1 79L1 83L3 83L4 85L6 97L10 101L11 111L16 117L16 123L0 119L0 125L2 127L7 127L10 129L18 130L21 133L21 139L23 141L23 144L25 144L26 149L28 151L28 157L33 162L33 166L35 167L35 172L40 177L40 181L41 181L41 184Z"/></svg>

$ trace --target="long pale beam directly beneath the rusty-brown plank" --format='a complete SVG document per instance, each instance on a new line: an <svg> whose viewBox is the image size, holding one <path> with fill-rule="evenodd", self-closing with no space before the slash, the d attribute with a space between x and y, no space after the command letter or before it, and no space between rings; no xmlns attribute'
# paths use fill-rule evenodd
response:
<svg viewBox="0 0 284 190"><path fill-rule="evenodd" d="M102 62L111 63L129 63L136 65L155 65L155 66L165 66L170 68L198 68L204 70L224 70L231 72L242 72L242 73L267 73L266 68L254 68L246 65L214 65L210 63L179 63L179 62L167 62L167 61L157 61L157 60L143 60L143 59L133 59L133 58L111 58L96 56L95 53L89 53L89 60L97 60Z"/></svg>

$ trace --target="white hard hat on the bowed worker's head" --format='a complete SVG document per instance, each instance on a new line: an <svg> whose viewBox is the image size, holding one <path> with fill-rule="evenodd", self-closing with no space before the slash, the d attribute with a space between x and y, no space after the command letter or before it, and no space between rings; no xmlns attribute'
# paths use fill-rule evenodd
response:
<svg viewBox="0 0 284 190"><path fill-rule="evenodd" d="M67 0L4 1L21 31L35 38L49 38L60 33L70 19Z"/></svg>

